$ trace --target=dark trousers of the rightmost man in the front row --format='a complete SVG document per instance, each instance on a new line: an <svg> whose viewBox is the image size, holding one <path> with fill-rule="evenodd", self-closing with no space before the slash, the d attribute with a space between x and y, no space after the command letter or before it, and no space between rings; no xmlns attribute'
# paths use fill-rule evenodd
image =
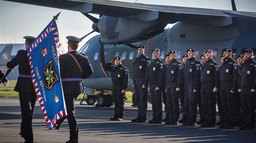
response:
<svg viewBox="0 0 256 143"><path fill-rule="evenodd" d="M254 127L256 92L252 93L251 89L250 87L241 88L242 117L244 124Z"/></svg>

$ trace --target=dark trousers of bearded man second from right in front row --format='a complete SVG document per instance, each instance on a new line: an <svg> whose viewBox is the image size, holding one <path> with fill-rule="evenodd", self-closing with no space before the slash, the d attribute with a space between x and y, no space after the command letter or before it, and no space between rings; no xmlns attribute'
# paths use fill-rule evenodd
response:
<svg viewBox="0 0 256 143"><path fill-rule="evenodd" d="M221 85L221 105L224 111L224 124L225 126L234 126L234 93L230 93L232 85Z"/></svg>

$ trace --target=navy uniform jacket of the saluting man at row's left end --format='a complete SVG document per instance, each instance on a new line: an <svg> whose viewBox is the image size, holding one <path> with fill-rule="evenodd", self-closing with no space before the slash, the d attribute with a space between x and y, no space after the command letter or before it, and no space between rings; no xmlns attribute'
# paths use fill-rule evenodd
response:
<svg viewBox="0 0 256 143"><path fill-rule="evenodd" d="M122 64L111 66L112 63L106 63L105 69L111 72L111 81L113 85L122 85L123 90L126 90L129 82L129 71Z"/></svg>

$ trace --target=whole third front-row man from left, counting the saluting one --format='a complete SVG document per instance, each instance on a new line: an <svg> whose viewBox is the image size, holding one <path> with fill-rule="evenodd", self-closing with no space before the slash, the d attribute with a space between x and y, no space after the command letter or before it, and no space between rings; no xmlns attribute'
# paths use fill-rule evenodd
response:
<svg viewBox="0 0 256 143"><path fill-rule="evenodd" d="M152 103L153 118L149 120L149 123L161 124L162 123L162 98L161 93L164 81L164 69L165 65L159 58L160 50L154 48L152 50L154 61L149 65L148 72L146 74L146 81L149 82L150 98Z"/></svg>

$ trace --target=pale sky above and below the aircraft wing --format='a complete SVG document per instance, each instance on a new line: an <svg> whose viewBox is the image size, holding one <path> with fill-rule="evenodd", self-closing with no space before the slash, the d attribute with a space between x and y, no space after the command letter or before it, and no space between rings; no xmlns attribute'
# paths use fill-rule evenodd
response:
<svg viewBox="0 0 256 143"><path fill-rule="evenodd" d="M136 0L118 1L136 2ZM136 3L232 10L231 0L138 0ZM235 0L235 3L237 11L256 12L256 0ZM1 0L0 44L20 44L24 43L24 36L37 37L52 20L53 15L59 12L61 15L57 26L60 43L63 43L64 47L67 46L66 36L72 35L81 38L91 32L93 22L79 12ZM98 18L98 15L93 16ZM167 27L171 27L171 25L167 25ZM80 43L79 48L97 34L99 33L94 32L87 36Z"/></svg>

